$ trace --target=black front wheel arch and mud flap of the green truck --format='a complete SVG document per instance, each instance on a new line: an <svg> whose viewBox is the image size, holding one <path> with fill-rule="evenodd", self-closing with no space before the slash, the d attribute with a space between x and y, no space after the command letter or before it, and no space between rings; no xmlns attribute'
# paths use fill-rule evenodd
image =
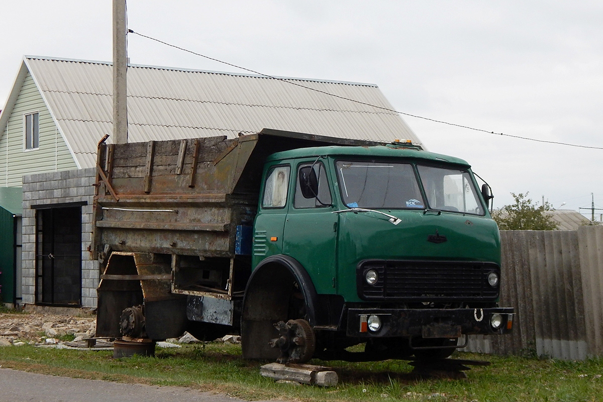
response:
<svg viewBox="0 0 603 402"><path fill-rule="evenodd" d="M276 359L278 348L268 345L277 338L277 321L287 321L288 303L294 282L304 297L306 319L317 322L318 295L310 275L295 259L282 254L257 265L245 287L241 314L241 342L245 359ZM300 317L297 317L300 318Z"/></svg>

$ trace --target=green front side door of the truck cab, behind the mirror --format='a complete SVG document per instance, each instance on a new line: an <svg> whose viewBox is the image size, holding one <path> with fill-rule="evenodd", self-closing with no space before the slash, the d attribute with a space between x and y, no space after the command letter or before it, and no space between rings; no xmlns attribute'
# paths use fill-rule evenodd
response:
<svg viewBox="0 0 603 402"><path fill-rule="evenodd" d="M311 168L318 179L318 193L306 198L301 192L300 171ZM318 294L333 294L336 284L338 214L332 200L329 174L322 162L299 163L292 174L291 202L283 233L283 254L293 257L310 274Z"/></svg>

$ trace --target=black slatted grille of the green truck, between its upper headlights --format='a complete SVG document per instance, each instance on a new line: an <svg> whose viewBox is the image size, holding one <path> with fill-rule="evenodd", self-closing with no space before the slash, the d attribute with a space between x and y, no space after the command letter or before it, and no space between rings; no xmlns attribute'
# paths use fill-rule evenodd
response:
<svg viewBox="0 0 603 402"><path fill-rule="evenodd" d="M365 281L370 269L379 275L373 285ZM499 266L485 262L372 260L358 265L356 283L363 300L496 300L499 285L488 284L490 272L500 275Z"/></svg>

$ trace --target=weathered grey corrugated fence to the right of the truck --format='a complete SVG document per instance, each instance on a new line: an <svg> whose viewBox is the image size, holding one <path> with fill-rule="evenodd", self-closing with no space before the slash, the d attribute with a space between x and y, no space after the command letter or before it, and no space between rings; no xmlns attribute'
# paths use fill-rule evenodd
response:
<svg viewBox="0 0 603 402"><path fill-rule="evenodd" d="M513 334L472 336L464 350L603 356L603 227L508 230L500 237L500 306L515 307Z"/></svg>

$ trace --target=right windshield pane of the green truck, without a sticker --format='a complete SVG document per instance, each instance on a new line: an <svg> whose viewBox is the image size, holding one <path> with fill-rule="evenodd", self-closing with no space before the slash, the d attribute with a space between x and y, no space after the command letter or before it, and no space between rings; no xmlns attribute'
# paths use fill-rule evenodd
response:
<svg viewBox="0 0 603 402"><path fill-rule="evenodd" d="M469 172L434 166L417 169L430 208L484 215Z"/></svg>

